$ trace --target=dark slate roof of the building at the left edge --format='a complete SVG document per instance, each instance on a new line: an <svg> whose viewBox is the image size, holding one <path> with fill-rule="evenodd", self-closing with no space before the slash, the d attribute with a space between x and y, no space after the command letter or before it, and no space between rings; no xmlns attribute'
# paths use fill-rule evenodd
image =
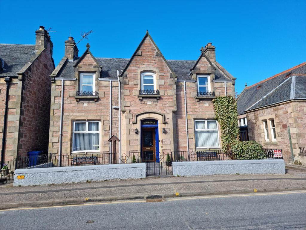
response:
<svg viewBox="0 0 306 230"><path fill-rule="evenodd" d="M36 54L35 45L0 44L0 58L4 60L4 69L0 76L15 77L26 63Z"/></svg>

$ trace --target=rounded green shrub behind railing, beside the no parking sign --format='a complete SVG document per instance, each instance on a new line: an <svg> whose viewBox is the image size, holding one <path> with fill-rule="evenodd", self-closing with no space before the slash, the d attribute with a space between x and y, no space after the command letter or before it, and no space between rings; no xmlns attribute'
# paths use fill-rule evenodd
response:
<svg viewBox="0 0 306 230"><path fill-rule="evenodd" d="M237 160L258 160L265 159L266 154L261 144L254 140L234 141L231 149L232 158Z"/></svg>

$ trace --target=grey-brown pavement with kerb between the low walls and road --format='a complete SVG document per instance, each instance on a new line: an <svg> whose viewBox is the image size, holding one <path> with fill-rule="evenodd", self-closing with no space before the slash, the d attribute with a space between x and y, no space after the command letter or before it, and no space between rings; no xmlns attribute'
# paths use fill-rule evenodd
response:
<svg viewBox="0 0 306 230"><path fill-rule="evenodd" d="M306 167L286 174L213 175L0 187L0 209L221 194L306 190Z"/></svg>

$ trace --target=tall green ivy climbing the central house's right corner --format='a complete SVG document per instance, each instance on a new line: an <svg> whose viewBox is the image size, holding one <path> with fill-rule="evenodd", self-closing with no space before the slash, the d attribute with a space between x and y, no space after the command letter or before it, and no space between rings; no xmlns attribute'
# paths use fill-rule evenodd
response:
<svg viewBox="0 0 306 230"><path fill-rule="evenodd" d="M237 102L231 96L220 96L212 100L215 115L221 127L223 150L230 151L239 141Z"/></svg>

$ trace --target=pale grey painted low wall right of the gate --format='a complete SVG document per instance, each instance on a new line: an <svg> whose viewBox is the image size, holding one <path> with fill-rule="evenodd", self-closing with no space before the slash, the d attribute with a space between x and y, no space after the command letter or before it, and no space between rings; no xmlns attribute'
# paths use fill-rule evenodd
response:
<svg viewBox="0 0 306 230"><path fill-rule="evenodd" d="M174 176L285 174L283 159L172 162Z"/></svg>

